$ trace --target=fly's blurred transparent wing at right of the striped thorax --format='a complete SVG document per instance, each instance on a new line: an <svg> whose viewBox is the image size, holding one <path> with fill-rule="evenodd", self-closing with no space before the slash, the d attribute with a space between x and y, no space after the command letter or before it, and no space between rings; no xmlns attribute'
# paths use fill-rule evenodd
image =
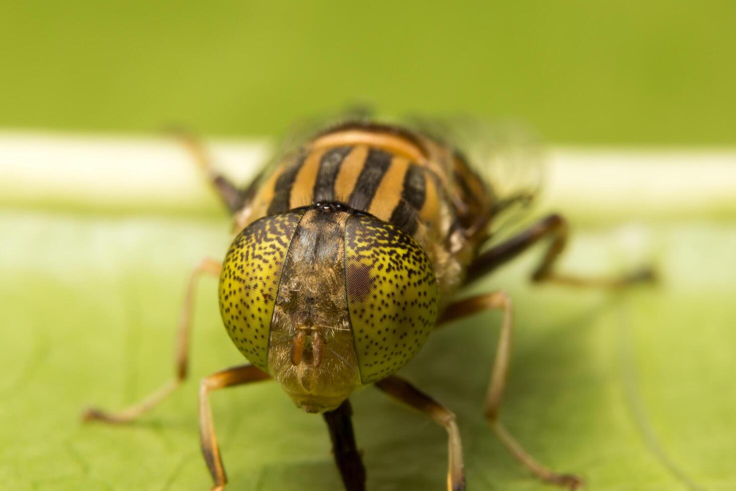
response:
<svg viewBox="0 0 736 491"><path fill-rule="evenodd" d="M538 202L547 174L536 133L514 121L412 119L432 138L457 149L493 196L493 239L506 236Z"/></svg>

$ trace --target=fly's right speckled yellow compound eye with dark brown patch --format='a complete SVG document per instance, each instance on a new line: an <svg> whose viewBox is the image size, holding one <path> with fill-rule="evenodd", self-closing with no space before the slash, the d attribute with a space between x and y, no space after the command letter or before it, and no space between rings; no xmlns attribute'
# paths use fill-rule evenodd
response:
<svg viewBox="0 0 736 491"><path fill-rule="evenodd" d="M363 384L403 367L434 328L437 283L420 244L373 216L345 224L345 286Z"/></svg>

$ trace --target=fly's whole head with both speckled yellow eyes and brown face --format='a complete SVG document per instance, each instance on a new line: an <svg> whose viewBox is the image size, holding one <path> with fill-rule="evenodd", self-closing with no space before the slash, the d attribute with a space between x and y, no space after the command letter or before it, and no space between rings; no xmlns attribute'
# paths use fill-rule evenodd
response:
<svg viewBox="0 0 736 491"><path fill-rule="evenodd" d="M233 241L220 282L230 338L309 412L403 367L437 302L431 263L411 236L337 205L254 222Z"/></svg>

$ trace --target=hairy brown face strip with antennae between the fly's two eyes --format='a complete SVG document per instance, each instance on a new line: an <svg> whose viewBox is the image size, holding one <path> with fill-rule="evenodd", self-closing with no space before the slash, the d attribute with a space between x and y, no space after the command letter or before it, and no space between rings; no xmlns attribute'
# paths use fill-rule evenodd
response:
<svg viewBox="0 0 736 491"><path fill-rule="evenodd" d="M271 323L269 372L302 409L335 409L361 386L344 282L350 217L306 211L291 239Z"/></svg>

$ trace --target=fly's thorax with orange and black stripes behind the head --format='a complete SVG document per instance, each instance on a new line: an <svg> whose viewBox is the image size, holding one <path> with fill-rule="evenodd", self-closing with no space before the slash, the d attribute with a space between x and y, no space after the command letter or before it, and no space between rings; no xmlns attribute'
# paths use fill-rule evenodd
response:
<svg viewBox="0 0 736 491"><path fill-rule="evenodd" d="M316 202L342 202L398 227L431 259L443 299L484 239L491 195L453 149L375 124L348 124L287 152L249 194L236 230Z"/></svg>

